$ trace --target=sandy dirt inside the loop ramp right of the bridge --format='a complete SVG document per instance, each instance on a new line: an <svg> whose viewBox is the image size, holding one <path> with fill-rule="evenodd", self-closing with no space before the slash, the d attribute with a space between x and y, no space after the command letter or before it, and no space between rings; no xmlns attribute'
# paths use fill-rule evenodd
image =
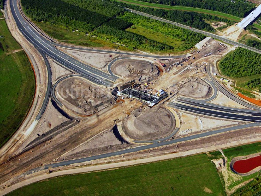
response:
<svg viewBox="0 0 261 196"><path fill-rule="evenodd" d="M193 78L182 85L178 95L191 98L207 98L212 94L211 87L202 79Z"/></svg>

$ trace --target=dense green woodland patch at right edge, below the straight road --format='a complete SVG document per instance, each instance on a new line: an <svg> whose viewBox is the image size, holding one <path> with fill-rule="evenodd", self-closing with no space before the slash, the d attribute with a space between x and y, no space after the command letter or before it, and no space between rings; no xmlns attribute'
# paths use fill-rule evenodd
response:
<svg viewBox="0 0 261 196"><path fill-rule="evenodd" d="M219 68L226 76L245 77L261 74L260 62L261 54L238 47L221 59Z"/></svg>

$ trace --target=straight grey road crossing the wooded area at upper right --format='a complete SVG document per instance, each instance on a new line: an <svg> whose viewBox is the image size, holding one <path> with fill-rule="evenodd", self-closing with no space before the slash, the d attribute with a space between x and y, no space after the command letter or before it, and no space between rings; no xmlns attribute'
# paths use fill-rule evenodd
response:
<svg viewBox="0 0 261 196"><path fill-rule="evenodd" d="M129 10L133 13L136 13L136 14L139 14L139 15L142 15L142 16L146 16L146 17L149 17L149 18L153 18L155 20L159 20L159 21L162 21L162 22L165 22L165 23L169 23L169 24L172 24L172 25L175 25L175 26L178 26L178 27L181 27L183 29L188 29L190 31L194 31L194 32L197 32L197 33L201 33L205 36L209 36L209 37L212 37L212 38L216 38L218 40L221 40L223 42L226 42L226 43L229 43L229 44L232 44L232 45L235 45L235 46L240 46L242 48L246 48L248 50L251 50L253 52L257 52L259 54L261 54L261 50L258 50L256 48L252 48L250 46L247 46L245 44L242 44L242 43L239 43L239 42L236 42L236 41L233 41L233 40L230 40L226 37L222 37L222 36L218 36L218 35L215 35L213 33L209 33L209 32L205 32L205 31L202 31L202 30L198 30L198 29L195 29L195 28L192 28L190 26L186 26L186 25L182 25L180 23L176 23L176 22L173 22L173 21L170 21L170 20L166 20L166 19L163 19L163 18L159 18L157 16L153 16L153 15L150 15L150 14L146 14L146 13L143 13L143 12L139 12L139 11L136 11L136 10L133 10L133 9L129 9L129 8L125 8L126 10Z"/></svg>

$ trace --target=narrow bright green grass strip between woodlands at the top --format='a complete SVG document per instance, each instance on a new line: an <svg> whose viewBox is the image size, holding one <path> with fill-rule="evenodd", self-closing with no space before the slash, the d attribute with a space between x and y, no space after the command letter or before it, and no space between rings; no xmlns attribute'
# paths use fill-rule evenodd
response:
<svg viewBox="0 0 261 196"><path fill-rule="evenodd" d="M234 20L236 22L239 22L241 18L237 16L233 16L230 14L225 14L222 12L207 10L207 9L201 9L201 8L191 8L191 7L183 7L183 6L172 6L172 5L163 5L163 4L157 4L157 3L149 3L149 2L143 2L143 1L136 1L136 0L114 0L118 2L124 2L129 4L135 4L142 7L152 7L152 8L160 8L160 9L174 9L174 10L182 10L182 11L188 11L188 12L199 12L204 14L210 14L222 18L227 18L229 20Z"/></svg>

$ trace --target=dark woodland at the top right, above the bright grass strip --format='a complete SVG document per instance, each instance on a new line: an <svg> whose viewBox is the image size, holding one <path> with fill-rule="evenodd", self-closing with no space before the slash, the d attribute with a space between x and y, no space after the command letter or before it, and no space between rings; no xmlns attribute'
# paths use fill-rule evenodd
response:
<svg viewBox="0 0 261 196"><path fill-rule="evenodd" d="M159 3L165 5L182 5L185 7L202 8L208 10L214 10L231 14L244 18L254 8L254 4L251 4L245 0L138 0L150 3Z"/></svg>

